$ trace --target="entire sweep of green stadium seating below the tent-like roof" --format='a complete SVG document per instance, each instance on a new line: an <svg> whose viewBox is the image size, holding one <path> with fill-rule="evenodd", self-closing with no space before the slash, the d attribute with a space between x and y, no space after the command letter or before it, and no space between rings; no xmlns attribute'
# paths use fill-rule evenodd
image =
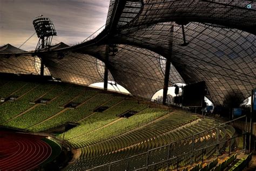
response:
<svg viewBox="0 0 256 171"><path fill-rule="evenodd" d="M6 86L11 86L10 89ZM17 97L15 101L0 104L3 113L1 125L31 132L41 132L75 122L78 126L56 135L69 143L80 154L73 159L67 170L90 169L112 162L113 170L142 168L152 165L151 170L186 166L192 161L215 155L217 128L221 122L203 119L189 112L151 108L137 99L122 94L107 93L95 88L71 84L30 83L24 81L3 81L0 96ZM46 104L38 104L46 99ZM67 107L75 103L75 108ZM102 112L95 112L98 107ZM134 115L121 117L132 111ZM208 130L205 132L205 130ZM220 127L220 150L223 151L227 136L233 137L232 126ZM193 154L192 136L194 136ZM233 147L234 140L230 146ZM201 151L202 147L205 151ZM189 155L188 155L189 154ZM132 156L132 157L131 157ZM130 158L129 158L130 157ZM129 158L129 165L127 165ZM117 160L120 160L116 162ZM154 165L154 163L160 163ZM200 165L198 165L199 167ZM108 166L109 167L109 166ZM210 170L218 165L200 167Z"/></svg>

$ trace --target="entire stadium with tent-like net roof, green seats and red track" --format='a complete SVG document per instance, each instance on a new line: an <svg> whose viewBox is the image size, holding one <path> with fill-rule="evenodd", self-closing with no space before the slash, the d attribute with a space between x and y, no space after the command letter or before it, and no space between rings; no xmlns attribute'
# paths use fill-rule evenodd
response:
<svg viewBox="0 0 256 171"><path fill-rule="evenodd" d="M48 17L0 47L0 170L255 170L256 2L110 0L76 45Z"/></svg>

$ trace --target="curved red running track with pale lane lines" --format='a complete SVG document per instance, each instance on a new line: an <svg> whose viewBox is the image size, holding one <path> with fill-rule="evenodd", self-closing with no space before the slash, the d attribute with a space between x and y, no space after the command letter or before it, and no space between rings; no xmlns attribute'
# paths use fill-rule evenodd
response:
<svg viewBox="0 0 256 171"><path fill-rule="evenodd" d="M51 155L42 136L0 131L0 170L32 170Z"/></svg>

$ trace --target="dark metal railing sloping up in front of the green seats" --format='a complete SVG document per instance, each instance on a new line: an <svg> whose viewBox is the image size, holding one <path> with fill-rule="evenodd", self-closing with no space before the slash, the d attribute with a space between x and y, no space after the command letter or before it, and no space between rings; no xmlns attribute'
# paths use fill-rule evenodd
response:
<svg viewBox="0 0 256 171"><path fill-rule="evenodd" d="M247 120L246 115L244 115L234 120L227 121L218 126L196 133L192 136L188 136L186 138L173 141L169 145L149 149L144 153L133 155L126 159L106 163L104 165L96 166L88 170L120 170L121 168L125 168L125 170L155 170L156 168L160 169L159 167L169 166L172 166L174 169L178 168L180 165L192 165L192 163L198 160L204 161L204 156L206 155L211 156L214 154L216 156L219 156L221 151L223 151L223 148L225 147L226 143L230 144L230 146L228 147L228 154L231 154L231 142L238 137L242 137L244 139L244 141L242 142L244 147L242 151L245 151L247 126L245 126L244 133L237 136L232 136L231 138L228 139L226 137L226 134L224 134L223 131L221 131L221 128L225 130L226 125L234 123L235 121L242 118L246 118ZM204 137L205 133L209 132L215 133L215 138L213 138L213 136L211 138L212 141L204 140L204 143L202 143L201 141L197 143L198 139L201 139L202 137ZM220 134L223 135L220 137ZM186 146L186 148L183 149L183 151L181 150L179 151L179 153L175 154L175 151L172 150L175 148L176 150L178 150L179 147L181 148L181 146L178 145L191 140L192 142L189 143ZM201 144L203 144L203 146Z"/></svg>

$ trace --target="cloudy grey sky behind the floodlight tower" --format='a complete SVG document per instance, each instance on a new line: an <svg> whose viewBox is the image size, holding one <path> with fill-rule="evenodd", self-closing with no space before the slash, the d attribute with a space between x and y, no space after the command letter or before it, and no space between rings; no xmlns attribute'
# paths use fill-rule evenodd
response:
<svg viewBox="0 0 256 171"><path fill-rule="evenodd" d="M72 45L82 42L106 23L110 0L0 0L0 46L22 45L35 29L32 21L39 15L49 17L57 36L52 43ZM34 35L21 49L35 50Z"/></svg>

